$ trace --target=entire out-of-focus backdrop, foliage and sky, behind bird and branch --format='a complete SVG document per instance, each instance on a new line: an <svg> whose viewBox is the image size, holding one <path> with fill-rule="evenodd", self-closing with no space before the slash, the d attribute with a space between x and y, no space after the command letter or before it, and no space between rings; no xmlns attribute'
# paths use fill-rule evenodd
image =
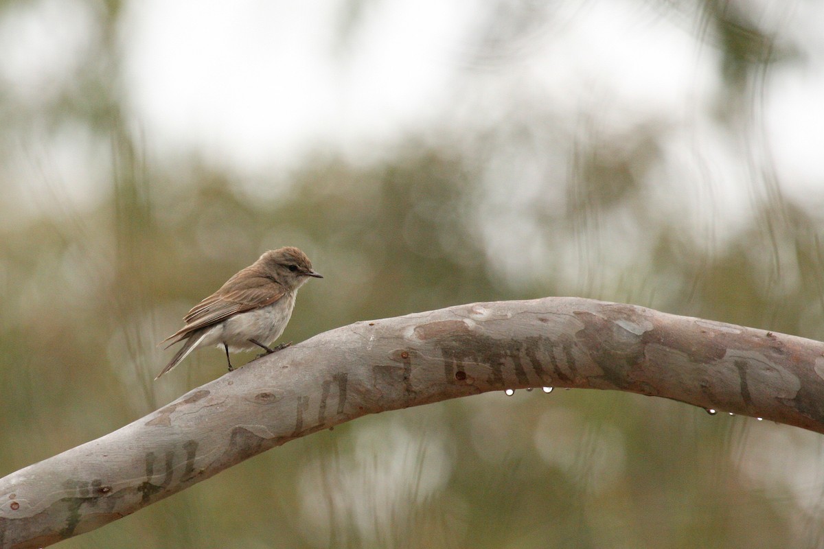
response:
<svg viewBox="0 0 824 549"><path fill-rule="evenodd" d="M284 341L576 295L824 337L824 2L0 2L0 476ZM238 356L236 363L250 359ZM821 435L541 390L364 417L60 547L822 547Z"/></svg>

